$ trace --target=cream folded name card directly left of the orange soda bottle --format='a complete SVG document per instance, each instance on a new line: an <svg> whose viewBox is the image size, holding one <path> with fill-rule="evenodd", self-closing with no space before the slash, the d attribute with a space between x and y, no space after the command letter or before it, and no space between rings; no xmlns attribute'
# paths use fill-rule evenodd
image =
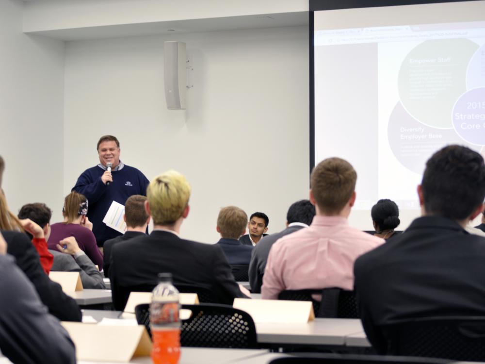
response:
<svg viewBox="0 0 485 364"><path fill-rule="evenodd" d="M76 345L78 360L123 362L149 356L152 343L145 326L102 326L62 322ZM102 338L102 340L101 340Z"/></svg>

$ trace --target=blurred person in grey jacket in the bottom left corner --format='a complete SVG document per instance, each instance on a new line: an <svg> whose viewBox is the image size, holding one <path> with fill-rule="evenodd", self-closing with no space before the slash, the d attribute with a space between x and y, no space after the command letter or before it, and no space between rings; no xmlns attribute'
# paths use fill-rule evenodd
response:
<svg viewBox="0 0 485 364"><path fill-rule="evenodd" d="M6 252L0 233L0 352L14 364L76 363L69 334Z"/></svg>

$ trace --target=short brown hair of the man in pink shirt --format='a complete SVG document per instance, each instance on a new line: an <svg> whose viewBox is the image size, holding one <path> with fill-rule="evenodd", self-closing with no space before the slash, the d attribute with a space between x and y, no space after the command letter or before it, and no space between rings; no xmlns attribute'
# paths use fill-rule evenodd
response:
<svg viewBox="0 0 485 364"><path fill-rule="evenodd" d="M357 173L344 159L324 159L313 168L310 187L320 210L325 214L338 214L356 189Z"/></svg>

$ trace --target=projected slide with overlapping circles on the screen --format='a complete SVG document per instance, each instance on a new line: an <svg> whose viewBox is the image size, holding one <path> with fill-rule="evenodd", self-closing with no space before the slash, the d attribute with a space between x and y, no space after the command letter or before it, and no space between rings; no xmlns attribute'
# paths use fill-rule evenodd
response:
<svg viewBox="0 0 485 364"><path fill-rule="evenodd" d="M315 161L356 167L357 209L418 208L425 162L445 145L485 154L485 22L316 25L314 41Z"/></svg>

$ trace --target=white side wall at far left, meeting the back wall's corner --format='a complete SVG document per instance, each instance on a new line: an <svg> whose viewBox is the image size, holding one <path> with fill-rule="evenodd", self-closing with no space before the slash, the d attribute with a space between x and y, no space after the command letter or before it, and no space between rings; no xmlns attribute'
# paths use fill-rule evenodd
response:
<svg viewBox="0 0 485 364"><path fill-rule="evenodd" d="M21 1L0 0L2 187L14 213L40 201L60 214L64 42L23 34L22 8Z"/></svg>

